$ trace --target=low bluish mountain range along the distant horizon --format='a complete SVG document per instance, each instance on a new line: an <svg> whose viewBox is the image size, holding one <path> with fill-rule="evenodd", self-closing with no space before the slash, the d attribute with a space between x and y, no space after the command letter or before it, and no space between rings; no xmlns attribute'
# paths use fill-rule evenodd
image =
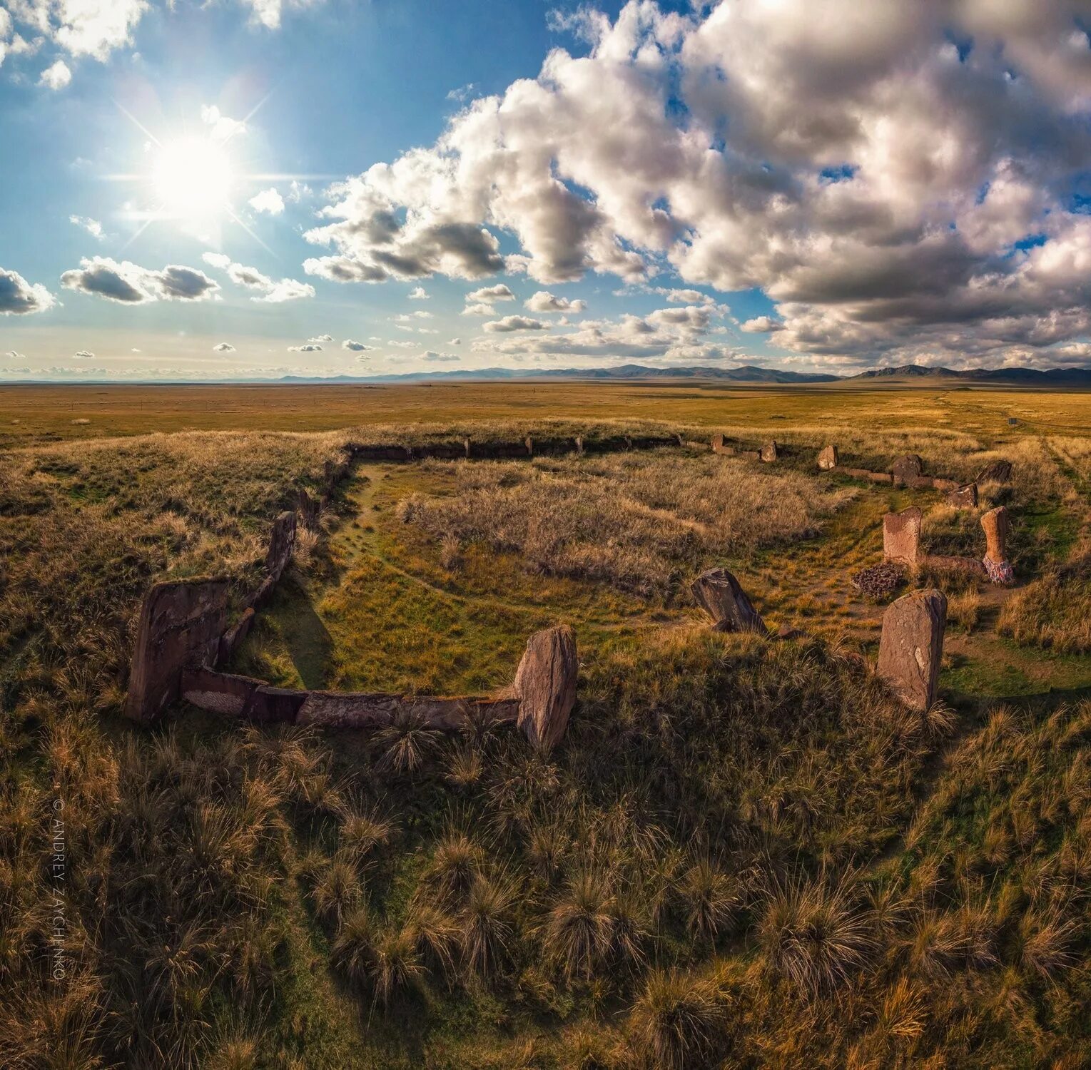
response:
<svg viewBox="0 0 1091 1070"><path fill-rule="evenodd" d="M855 383L868 380L928 381L958 383L995 383L1019 386L1067 386L1091 388L1091 369L1034 368L972 369L958 372L950 368L924 368L921 364L902 364L899 368L876 368L856 375L807 374L774 368L646 368L644 364L620 364L616 368L562 368L550 371L482 368L452 372L410 372L404 375L336 375L311 378L285 375L278 383L421 383L421 382L482 382L490 380L594 380L596 382L640 382L647 380L716 380L727 383ZM923 385L923 383L922 383Z"/></svg>

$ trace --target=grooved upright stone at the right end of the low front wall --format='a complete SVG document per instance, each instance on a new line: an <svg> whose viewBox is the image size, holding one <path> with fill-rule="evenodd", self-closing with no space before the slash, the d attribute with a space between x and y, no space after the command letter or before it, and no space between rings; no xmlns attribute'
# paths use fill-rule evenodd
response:
<svg viewBox="0 0 1091 1070"><path fill-rule="evenodd" d="M564 735L576 705L576 636L566 624L536 632L515 673L518 724L526 737L550 750Z"/></svg>

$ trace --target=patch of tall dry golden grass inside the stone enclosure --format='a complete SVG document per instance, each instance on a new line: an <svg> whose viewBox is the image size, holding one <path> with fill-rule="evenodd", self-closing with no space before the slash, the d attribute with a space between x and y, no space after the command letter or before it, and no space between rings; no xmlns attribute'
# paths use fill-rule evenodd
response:
<svg viewBox="0 0 1091 1070"><path fill-rule="evenodd" d="M454 494L399 515L437 540L517 551L543 574L664 597L709 558L817 533L850 501L793 471L676 452L452 466Z"/></svg>

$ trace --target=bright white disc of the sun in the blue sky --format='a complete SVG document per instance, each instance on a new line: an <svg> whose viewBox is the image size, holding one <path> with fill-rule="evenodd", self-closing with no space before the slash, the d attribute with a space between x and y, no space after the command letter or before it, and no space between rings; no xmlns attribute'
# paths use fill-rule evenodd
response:
<svg viewBox="0 0 1091 1070"><path fill-rule="evenodd" d="M221 144L182 137L158 146L157 153L152 184L164 217L202 223L230 211L235 173Z"/></svg>

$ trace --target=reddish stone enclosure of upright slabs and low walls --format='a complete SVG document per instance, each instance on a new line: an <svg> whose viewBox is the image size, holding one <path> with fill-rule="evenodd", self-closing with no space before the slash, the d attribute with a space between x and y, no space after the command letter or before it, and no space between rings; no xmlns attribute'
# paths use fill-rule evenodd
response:
<svg viewBox="0 0 1091 1070"><path fill-rule="evenodd" d="M299 522L316 530L317 517L336 484L347 476L350 458L412 460L422 457L531 457L537 453L584 453L595 450L654 448L676 445L708 448L680 435L632 437L618 435L585 443L571 438L535 442L530 436L508 443L434 443L424 447L349 446L349 459L327 461L323 496L315 501L305 489L297 496ZM712 436L715 454L776 462L778 444L770 440L759 449L740 449ZM973 508L978 502L975 483L959 486L954 480L923 474L920 457L899 458L890 472L839 467L837 448L825 446L817 456L823 471L840 471L872 482L927 486L948 491L952 505ZM980 479L1006 480L1011 466L997 461ZM884 557L919 565L952 563L981 570L994 582L1010 581L1005 539L1008 516L1004 507L982 517L986 537L983 562L973 558L935 558L920 553L921 510L887 514L884 519ZM493 696L394 695L382 693L335 693L290 690L272 687L260 680L225 673L218 666L230 661L253 627L255 611L266 604L291 560L296 543L297 512L281 513L273 522L265 576L249 598L242 613L228 628L228 580L199 578L155 584L145 597L137 623L130 674L127 714L136 721L154 721L179 698L223 716L257 722L319 725L332 729L374 729L412 721L435 729L455 729L471 722L516 724L537 746L550 749L563 737L576 701L578 658L575 636L561 625L530 636L512 685ZM726 568L700 575L692 585L695 601L721 632L768 629L739 580ZM935 699L946 599L939 591L918 591L891 603L883 617L878 672L911 707L924 709Z"/></svg>

